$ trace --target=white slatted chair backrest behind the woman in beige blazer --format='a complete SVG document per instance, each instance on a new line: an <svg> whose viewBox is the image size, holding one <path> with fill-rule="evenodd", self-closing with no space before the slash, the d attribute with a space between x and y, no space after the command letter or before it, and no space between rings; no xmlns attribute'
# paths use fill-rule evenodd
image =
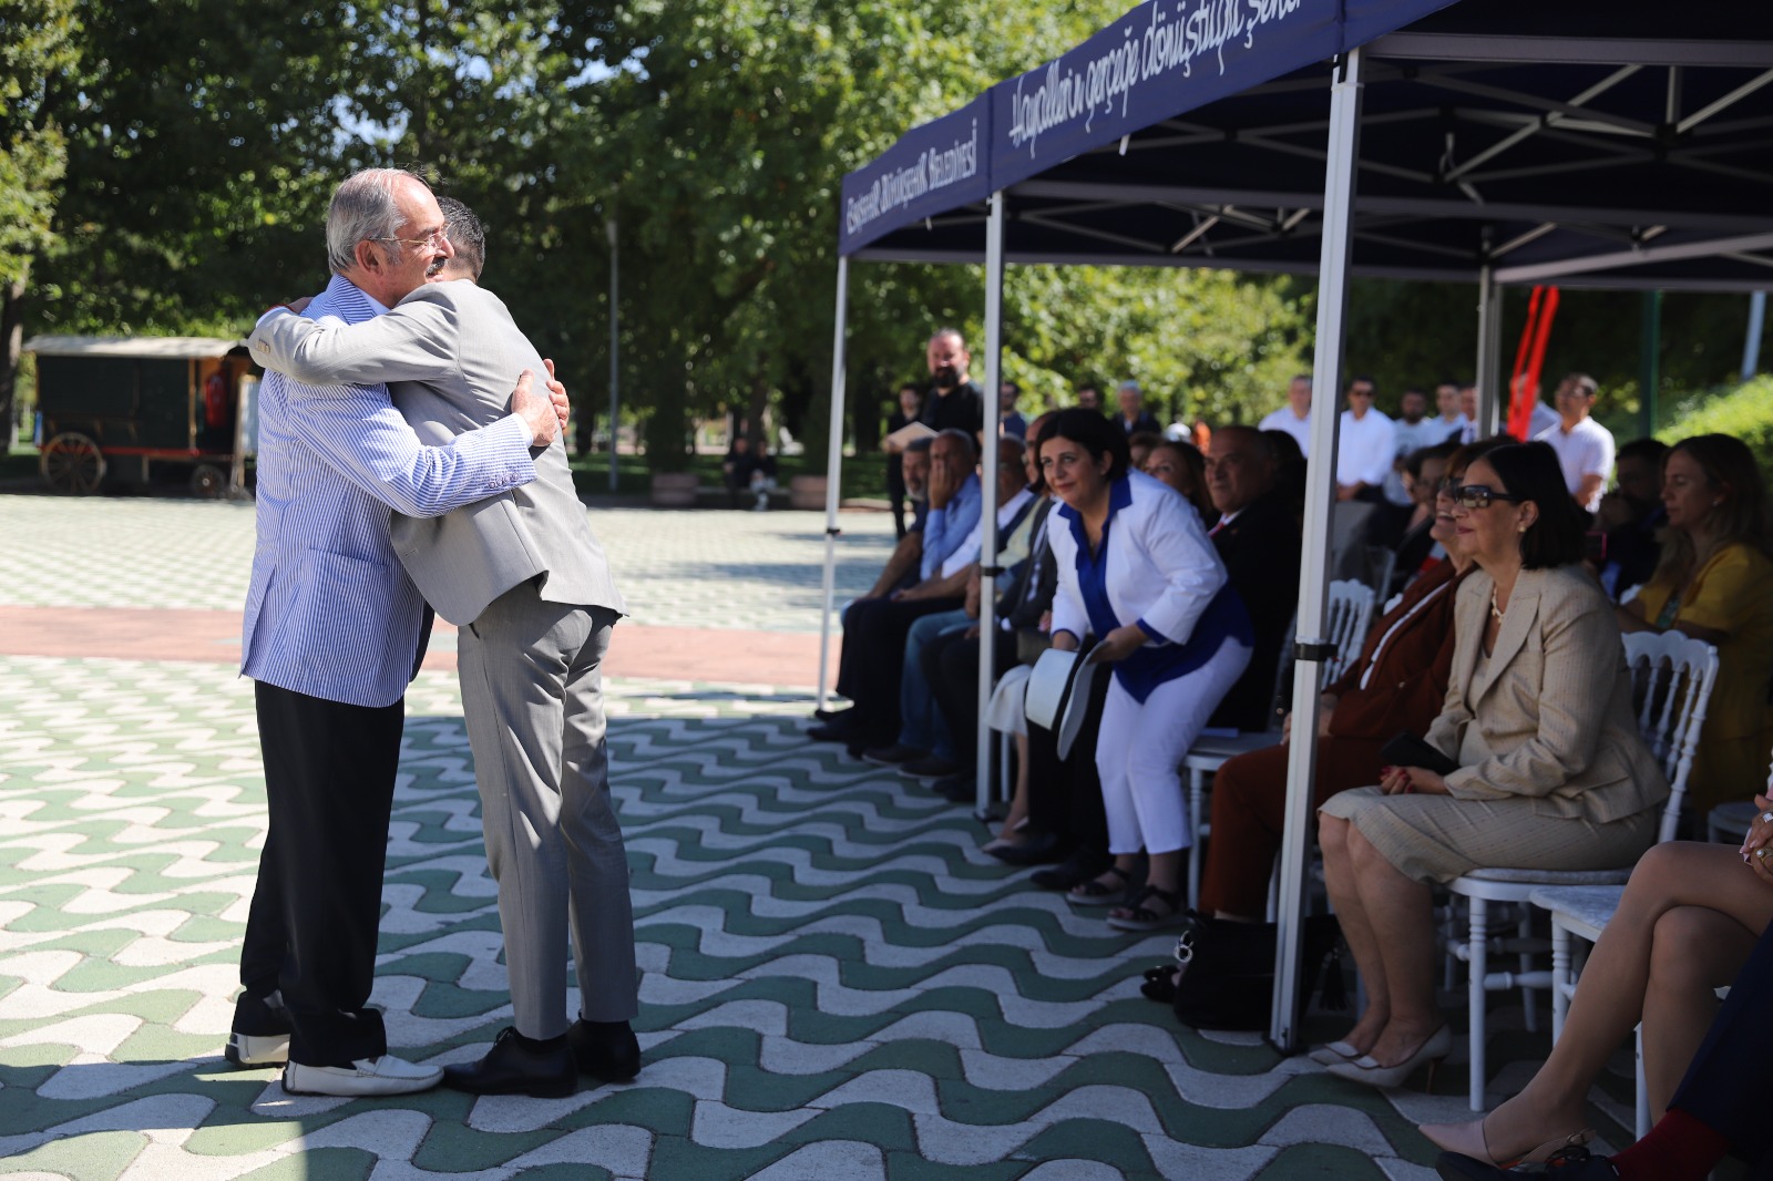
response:
<svg viewBox="0 0 1773 1181"><path fill-rule="evenodd" d="M1693 771L1699 732L1706 723L1706 704L1718 681L1718 649L1679 631L1631 631L1624 640L1638 734L1656 755L1670 787L1656 839L1674 841L1686 777Z"/></svg>

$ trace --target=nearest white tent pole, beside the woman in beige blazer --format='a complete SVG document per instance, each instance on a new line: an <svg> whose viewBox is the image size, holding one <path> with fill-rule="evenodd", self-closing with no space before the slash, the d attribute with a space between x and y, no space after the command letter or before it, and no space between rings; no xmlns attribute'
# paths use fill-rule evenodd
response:
<svg viewBox="0 0 1773 1181"><path fill-rule="evenodd" d="M1305 470L1305 560L1300 564L1300 615L1293 674L1293 732L1317 732L1317 672L1330 644L1324 637L1328 594L1330 509L1335 500L1335 413L1342 388L1342 333L1347 305L1355 163L1360 160L1360 50L1351 50L1330 87L1330 144L1324 165L1324 231L1317 271L1317 346L1312 360L1312 447ZM1287 743L1287 812L1280 844L1280 931L1275 950L1275 997L1269 1037L1293 1050L1300 989L1300 938L1305 920L1305 856L1312 823L1317 743Z"/></svg>

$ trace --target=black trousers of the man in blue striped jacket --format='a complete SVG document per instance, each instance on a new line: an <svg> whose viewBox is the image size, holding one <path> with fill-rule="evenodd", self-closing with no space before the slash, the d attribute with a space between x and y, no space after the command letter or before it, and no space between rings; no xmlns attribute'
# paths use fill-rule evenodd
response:
<svg viewBox="0 0 1773 1181"><path fill-rule="evenodd" d="M381 1057L388 1039L367 1004L406 704L346 706L262 681L255 697L271 826L239 981L255 997L282 989L293 1062Z"/></svg>

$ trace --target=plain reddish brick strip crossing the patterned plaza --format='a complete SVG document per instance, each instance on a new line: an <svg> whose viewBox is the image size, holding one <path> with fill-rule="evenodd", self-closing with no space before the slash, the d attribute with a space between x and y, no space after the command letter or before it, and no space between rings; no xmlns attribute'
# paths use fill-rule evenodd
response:
<svg viewBox="0 0 1773 1181"><path fill-rule="evenodd" d="M450 633L441 619L440 633ZM832 637L832 679L837 677ZM239 663L239 612L0 606L0 654L110 656ZM456 653L433 647L426 669L456 669ZM615 628L606 661L613 677L722 681L817 688L819 637L722 628Z"/></svg>

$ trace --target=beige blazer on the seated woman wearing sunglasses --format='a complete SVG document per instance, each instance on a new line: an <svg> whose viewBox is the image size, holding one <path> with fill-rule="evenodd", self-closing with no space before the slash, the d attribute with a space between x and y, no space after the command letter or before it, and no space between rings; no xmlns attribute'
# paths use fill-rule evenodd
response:
<svg viewBox="0 0 1773 1181"><path fill-rule="evenodd" d="M1580 566L1521 571L1496 649L1477 670L1495 583L1459 587L1447 700L1427 741L1459 763L1463 800L1532 796L1534 812L1606 823L1660 805L1668 782L1638 738L1626 651Z"/></svg>

